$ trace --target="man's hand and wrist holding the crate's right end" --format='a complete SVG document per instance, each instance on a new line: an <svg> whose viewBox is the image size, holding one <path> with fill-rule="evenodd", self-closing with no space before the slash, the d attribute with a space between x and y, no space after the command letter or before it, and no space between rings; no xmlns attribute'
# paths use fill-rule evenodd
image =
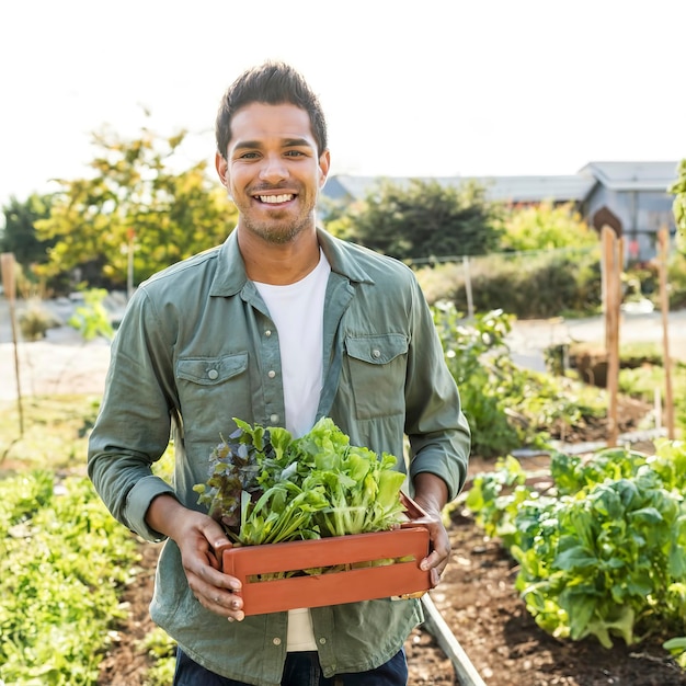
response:
<svg viewBox="0 0 686 686"><path fill-rule="evenodd" d="M448 489L443 479L426 472L419 473L414 478L414 500L426 513L414 522L428 529L431 541L431 552L421 561L420 568L431 570L432 586L437 586L450 556L450 538L441 516L448 500Z"/></svg>

